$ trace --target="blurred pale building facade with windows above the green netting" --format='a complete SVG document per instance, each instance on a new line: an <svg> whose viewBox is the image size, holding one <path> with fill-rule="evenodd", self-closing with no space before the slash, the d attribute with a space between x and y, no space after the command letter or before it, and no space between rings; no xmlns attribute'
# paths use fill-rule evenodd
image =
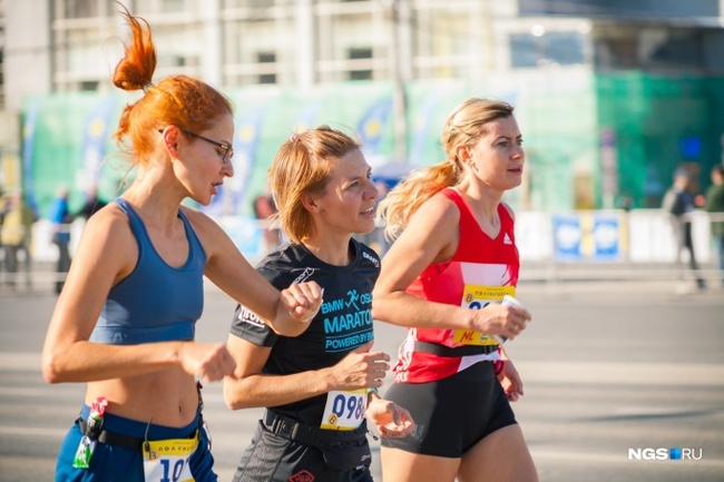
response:
<svg viewBox="0 0 724 482"><path fill-rule="evenodd" d="M219 87L482 81L544 66L724 71L718 0L124 3L154 27L159 76L185 72ZM109 0L0 0L9 107L22 94L109 89L119 53L112 36L123 33L117 10Z"/></svg>

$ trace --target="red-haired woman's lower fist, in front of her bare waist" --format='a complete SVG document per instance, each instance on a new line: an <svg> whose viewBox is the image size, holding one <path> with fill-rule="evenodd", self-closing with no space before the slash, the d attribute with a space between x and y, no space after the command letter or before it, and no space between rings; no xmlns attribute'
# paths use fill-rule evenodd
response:
<svg viewBox="0 0 724 482"><path fill-rule="evenodd" d="M184 372L205 382L217 382L236 370L236 363L223 343L182 342L178 357Z"/></svg>

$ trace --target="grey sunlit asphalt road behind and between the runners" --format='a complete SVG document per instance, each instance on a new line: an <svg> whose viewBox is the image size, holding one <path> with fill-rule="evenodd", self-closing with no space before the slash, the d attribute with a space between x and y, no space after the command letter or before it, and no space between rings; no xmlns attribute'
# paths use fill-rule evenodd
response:
<svg viewBox="0 0 724 482"><path fill-rule="evenodd" d="M513 409L541 481L724 481L723 289L524 283L518 298L534 321L507 344L525 382ZM0 288L0 482L51 481L82 400L82 385L48 385L40 375L55 301L49 288ZM198 338L225 340L232 311L209 286ZM375 335L394 356L401 329L378 323ZM229 411L221 384L207 385L204 397L216 471L231 481L261 410ZM683 449L685 460L671 460L671 449ZM376 458L378 443L373 450Z"/></svg>

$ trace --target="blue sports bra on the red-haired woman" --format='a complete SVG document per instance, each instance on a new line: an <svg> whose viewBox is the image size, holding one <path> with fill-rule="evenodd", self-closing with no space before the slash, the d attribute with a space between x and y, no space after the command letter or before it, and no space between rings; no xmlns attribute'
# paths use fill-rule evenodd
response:
<svg viewBox="0 0 724 482"><path fill-rule="evenodd" d="M188 240L188 259L179 268L162 259L140 217L123 198L115 199L126 213L138 242L134 270L108 293L90 341L111 345L193 340L196 321L204 311L206 253L188 219L178 210Z"/></svg>

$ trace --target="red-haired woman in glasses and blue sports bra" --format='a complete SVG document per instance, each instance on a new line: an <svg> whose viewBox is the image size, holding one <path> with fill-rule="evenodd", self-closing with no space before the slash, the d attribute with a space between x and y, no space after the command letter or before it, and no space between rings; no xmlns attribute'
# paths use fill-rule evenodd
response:
<svg viewBox="0 0 724 482"><path fill-rule="evenodd" d="M194 341L204 276L290 336L306 329L321 291L277 291L216 223L182 206L209 204L234 174L232 105L190 77L153 85L150 28L124 17L131 41L114 83L144 96L115 138L137 174L88 219L46 337L45 378L87 383L56 480L215 481L196 378L221 381L236 364L224 343Z"/></svg>

